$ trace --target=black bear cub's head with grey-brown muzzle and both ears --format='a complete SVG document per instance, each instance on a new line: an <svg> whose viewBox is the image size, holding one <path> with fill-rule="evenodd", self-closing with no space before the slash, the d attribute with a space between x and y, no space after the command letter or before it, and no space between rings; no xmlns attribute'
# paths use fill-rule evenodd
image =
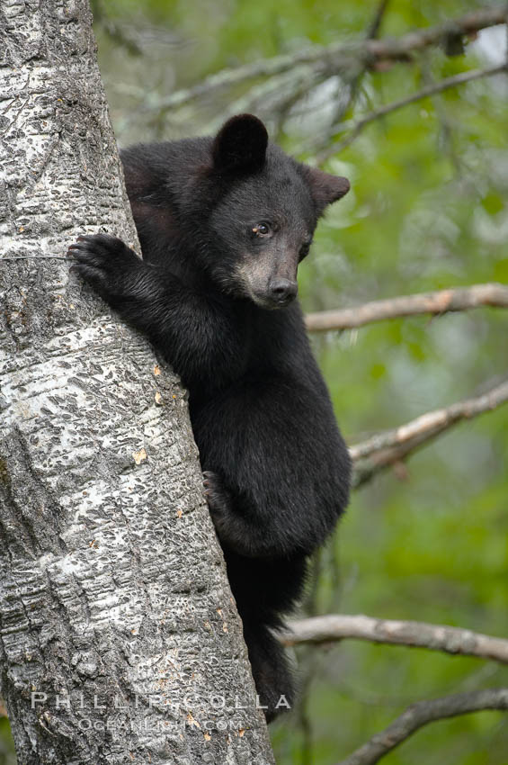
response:
<svg viewBox="0 0 508 765"><path fill-rule="evenodd" d="M288 305L317 220L349 181L289 157L252 114L218 131L206 177L210 275L224 292L263 308Z"/></svg>

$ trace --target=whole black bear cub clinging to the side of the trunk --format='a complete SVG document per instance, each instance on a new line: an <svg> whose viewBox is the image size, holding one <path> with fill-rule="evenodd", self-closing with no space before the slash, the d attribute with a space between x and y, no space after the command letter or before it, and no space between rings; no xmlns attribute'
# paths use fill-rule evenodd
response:
<svg viewBox="0 0 508 765"><path fill-rule="evenodd" d="M251 114L215 137L121 159L143 260L104 234L69 252L189 390L209 511L271 720L293 700L272 631L348 501L349 455L295 298L317 220L349 183L288 157Z"/></svg>

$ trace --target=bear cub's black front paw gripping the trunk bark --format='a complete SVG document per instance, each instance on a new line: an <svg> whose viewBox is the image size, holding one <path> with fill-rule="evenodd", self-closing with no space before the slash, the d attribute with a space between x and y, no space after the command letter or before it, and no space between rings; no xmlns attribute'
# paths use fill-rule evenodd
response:
<svg viewBox="0 0 508 765"><path fill-rule="evenodd" d="M125 293L129 276L144 266L121 239L107 234L78 237L67 254L76 261L74 269L106 300Z"/></svg>

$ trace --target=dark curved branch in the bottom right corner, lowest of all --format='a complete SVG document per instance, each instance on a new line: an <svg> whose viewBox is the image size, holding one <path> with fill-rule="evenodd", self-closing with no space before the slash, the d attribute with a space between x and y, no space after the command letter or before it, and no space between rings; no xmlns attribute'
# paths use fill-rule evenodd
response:
<svg viewBox="0 0 508 765"><path fill-rule="evenodd" d="M484 709L508 709L508 688L475 690L432 701L418 701L338 765L374 765L423 725Z"/></svg>

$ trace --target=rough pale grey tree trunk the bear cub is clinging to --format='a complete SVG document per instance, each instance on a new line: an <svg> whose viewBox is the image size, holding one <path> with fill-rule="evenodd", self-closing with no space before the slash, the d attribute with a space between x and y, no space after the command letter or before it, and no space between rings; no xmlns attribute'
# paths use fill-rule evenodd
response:
<svg viewBox="0 0 508 765"><path fill-rule="evenodd" d="M179 382L69 275L136 246L85 0L0 5L0 683L20 763L272 762Z"/></svg>

